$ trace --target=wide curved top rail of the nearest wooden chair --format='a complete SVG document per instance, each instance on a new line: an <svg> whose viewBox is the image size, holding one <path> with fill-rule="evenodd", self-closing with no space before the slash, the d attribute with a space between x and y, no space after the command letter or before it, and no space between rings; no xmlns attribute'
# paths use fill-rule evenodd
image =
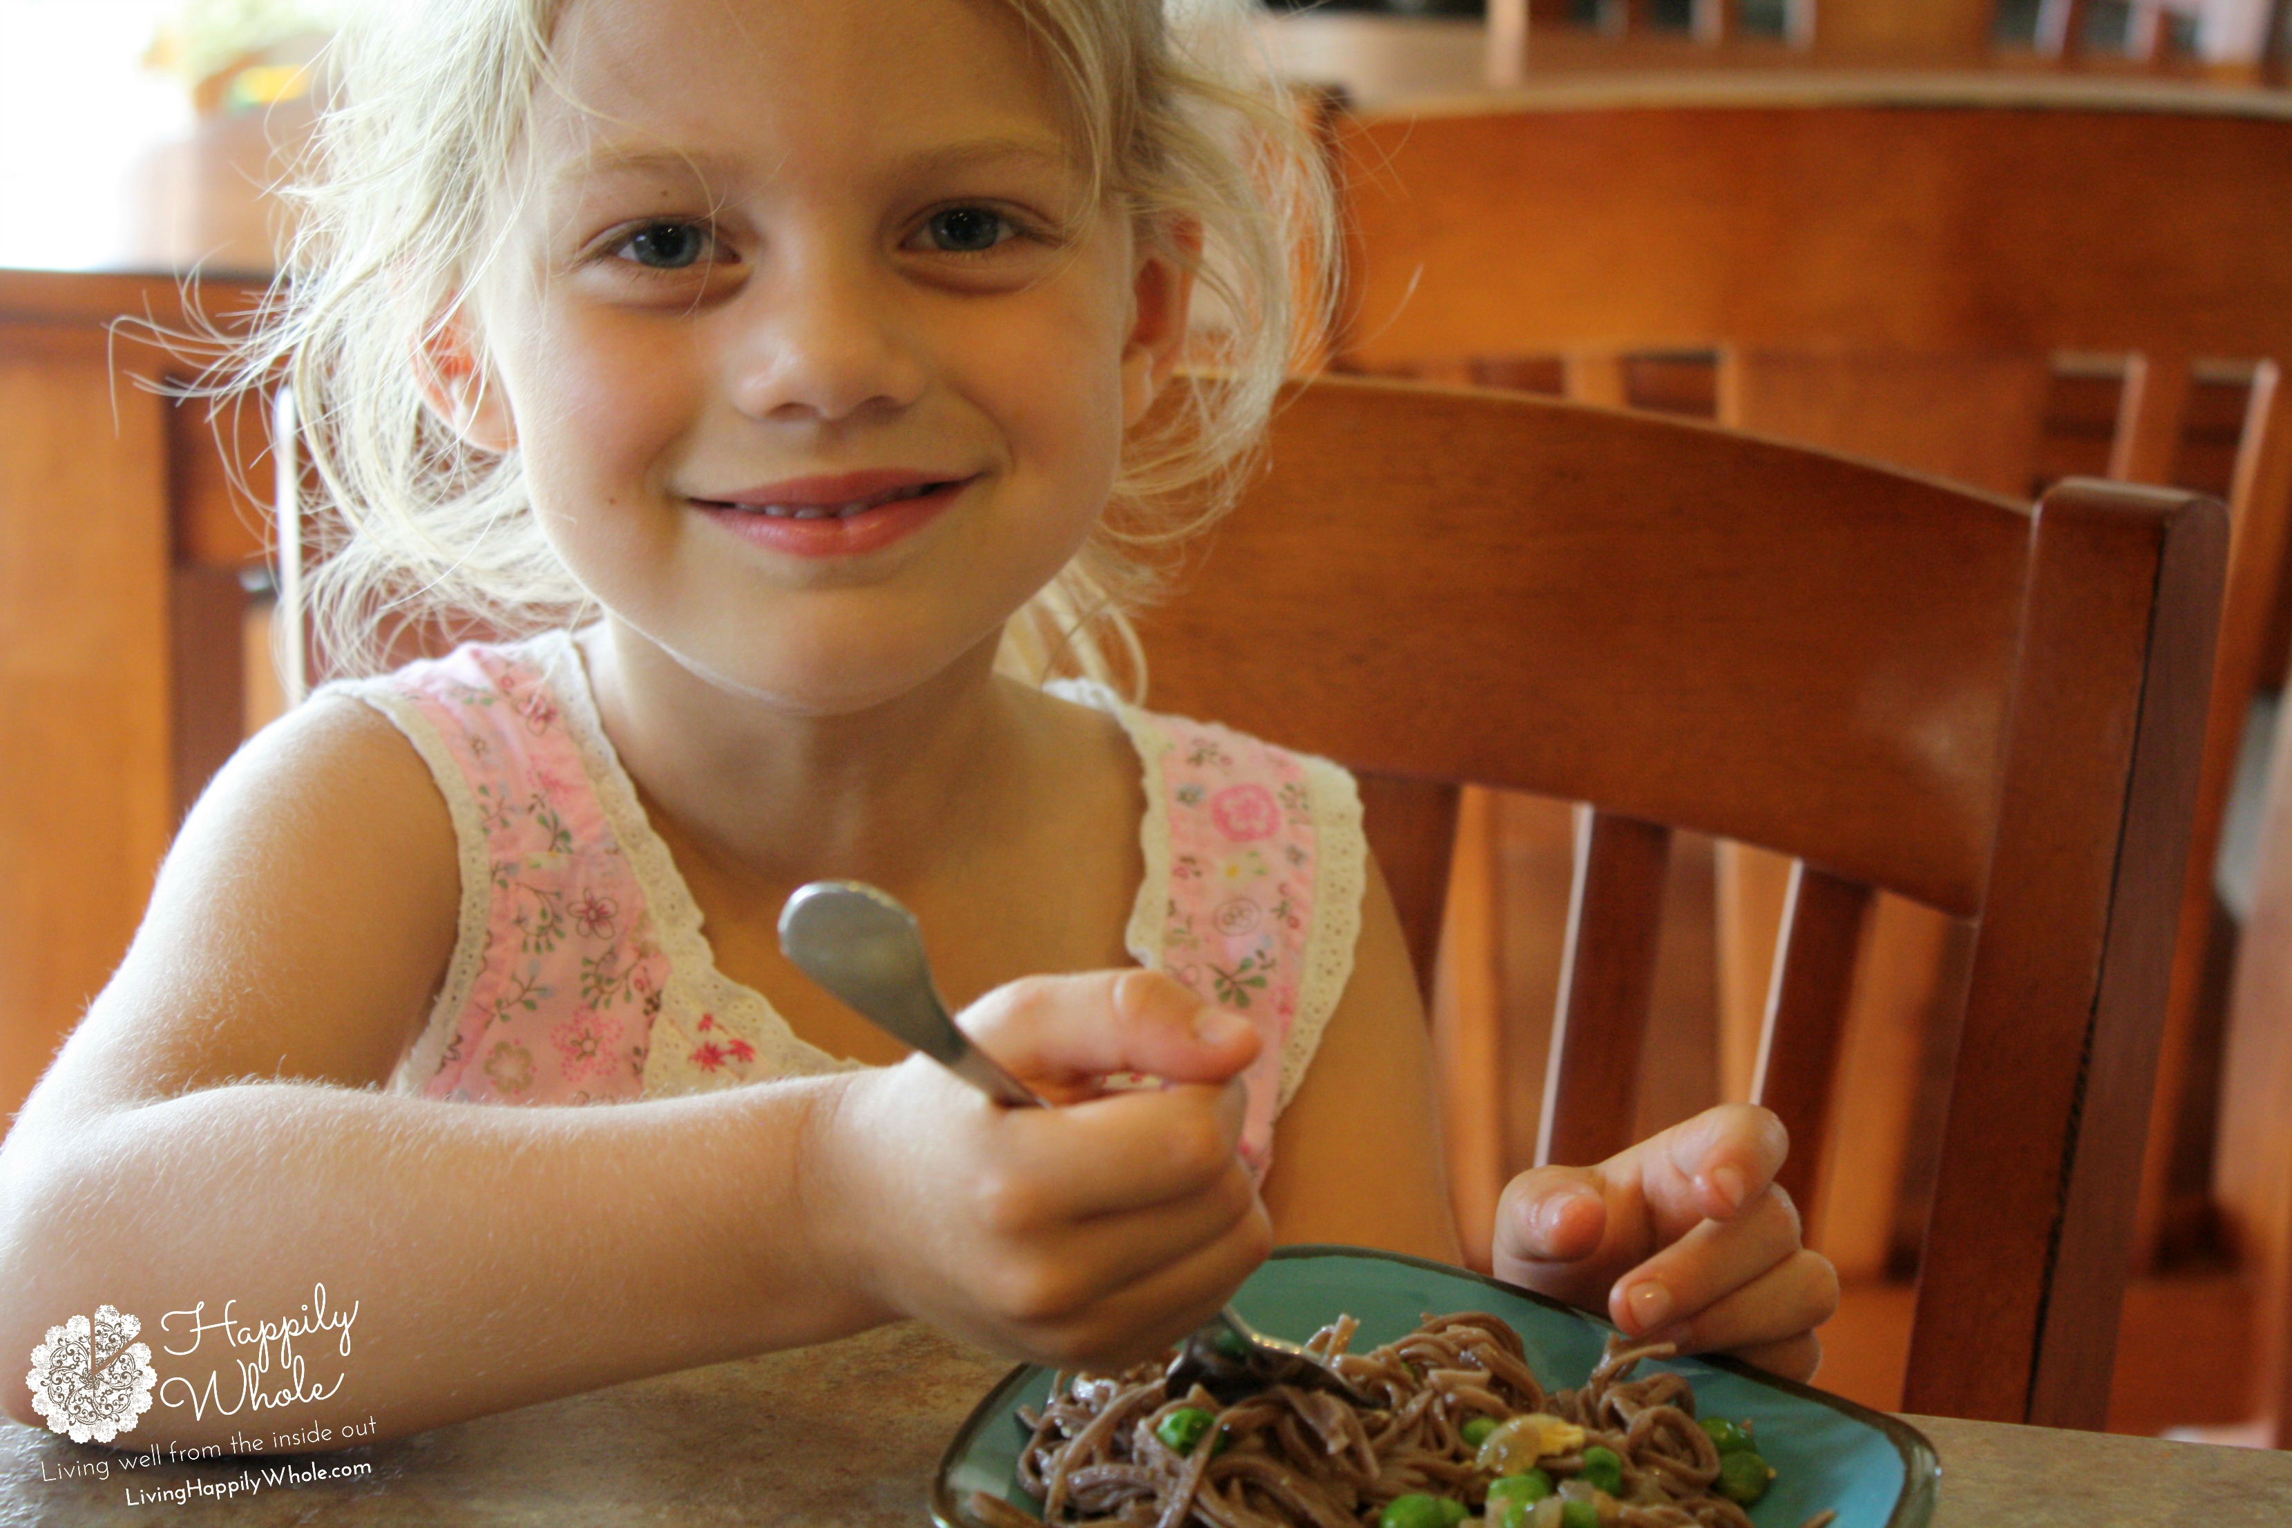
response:
<svg viewBox="0 0 2292 1528"><path fill-rule="evenodd" d="M1277 415L1272 474L1185 577L1201 598L1141 632L1169 710L1971 916L2026 543L2026 509L1818 451L1332 378Z"/></svg>

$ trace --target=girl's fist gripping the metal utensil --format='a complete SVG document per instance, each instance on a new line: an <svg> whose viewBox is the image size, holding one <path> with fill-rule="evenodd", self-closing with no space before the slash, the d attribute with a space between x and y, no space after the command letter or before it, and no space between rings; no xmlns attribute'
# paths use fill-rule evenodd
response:
<svg viewBox="0 0 2292 1528"><path fill-rule="evenodd" d="M809 1219L896 1315L1059 1368L1118 1368L1217 1310L1272 1249L1235 1155L1247 1019L1153 971L988 992L965 1033L1057 1109L1004 1109L924 1056L821 1123ZM1114 1072L1169 1086L1107 1093Z"/></svg>

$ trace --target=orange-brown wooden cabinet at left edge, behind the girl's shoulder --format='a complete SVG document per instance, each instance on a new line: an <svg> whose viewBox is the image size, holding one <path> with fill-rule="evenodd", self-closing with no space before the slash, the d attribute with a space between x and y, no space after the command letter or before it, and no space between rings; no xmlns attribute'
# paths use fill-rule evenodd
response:
<svg viewBox="0 0 2292 1528"><path fill-rule="evenodd" d="M222 318L254 289L209 284ZM0 1118L110 978L197 786L238 747L259 422L218 449L174 277L0 270ZM197 657L190 657L197 655Z"/></svg>

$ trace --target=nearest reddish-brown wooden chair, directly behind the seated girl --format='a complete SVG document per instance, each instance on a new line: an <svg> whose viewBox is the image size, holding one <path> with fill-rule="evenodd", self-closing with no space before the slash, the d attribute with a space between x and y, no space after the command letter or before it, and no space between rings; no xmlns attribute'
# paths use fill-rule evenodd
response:
<svg viewBox="0 0 2292 1528"><path fill-rule="evenodd" d="M1907 1407L2097 1427L2226 527L1708 426L1322 380L1144 623L1151 703L1361 772L1430 969L1462 783L1591 804L1547 1157L1627 1143L1671 827L1799 857L1765 1088L1829 1118L1873 887L1978 921Z"/></svg>

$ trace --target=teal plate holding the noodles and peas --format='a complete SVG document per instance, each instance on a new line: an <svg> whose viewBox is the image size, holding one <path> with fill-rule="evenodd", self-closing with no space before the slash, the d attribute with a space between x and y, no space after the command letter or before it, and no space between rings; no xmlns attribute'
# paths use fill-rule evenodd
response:
<svg viewBox="0 0 2292 1528"><path fill-rule="evenodd" d="M1414 1331L1426 1315L1488 1310L1513 1324L1529 1347L1529 1368L1549 1391L1584 1384L1614 1331L1572 1306L1481 1274L1357 1246L1284 1246L1233 1303L1251 1324L1293 1342L1350 1313L1361 1324L1355 1352ZM1838 1512L1836 1528L1925 1528L1934 1514L1941 1464L1918 1429L1733 1358L1671 1358L1643 1363L1639 1372L1655 1368L1687 1375L1701 1416L1753 1423L1760 1455L1776 1471L1774 1487L1751 1510L1763 1528L1797 1528L1824 1507ZM958 1510L972 1491L1038 1510L1041 1503L1018 1487L1018 1450L1027 1434L1015 1413L1045 1400L1050 1370L1029 1365L979 1402L931 1484L931 1517L940 1528L976 1528Z"/></svg>

